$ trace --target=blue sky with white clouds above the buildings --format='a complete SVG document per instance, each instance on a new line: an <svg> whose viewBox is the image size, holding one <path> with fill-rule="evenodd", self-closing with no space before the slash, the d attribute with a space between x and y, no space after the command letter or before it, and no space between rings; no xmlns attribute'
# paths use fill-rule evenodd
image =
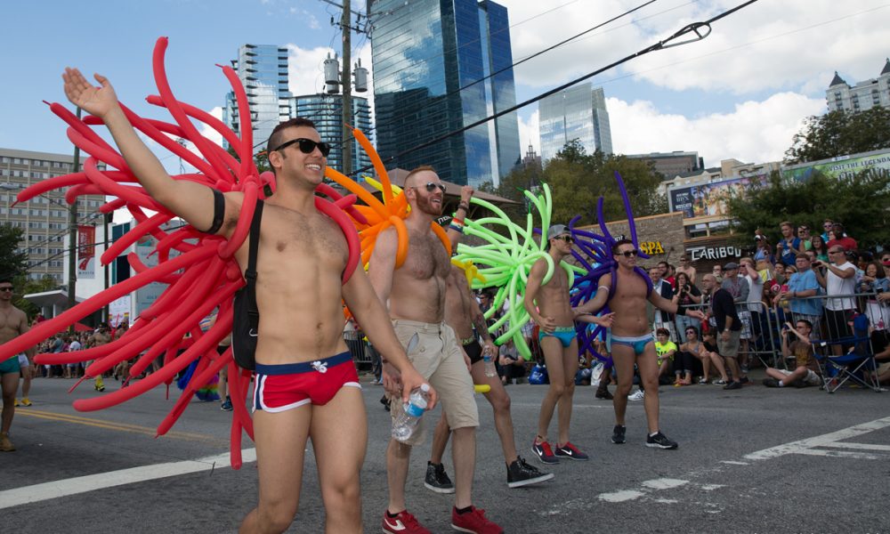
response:
<svg viewBox="0 0 890 534"><path fill-rule="evenodd" d="M504 0L514 60L642 3ZM659 0L633 19L517 68L517 101L739 3ZM360 0L353 4L363 9ZM761 0L717 21L700 43L652 53L595 77L593 83L605 89L615 150L698 150L708 166L723 158L781 158L801 121L825 111L824 91L835 70L851 84L878 76L890 55L888 5ZM138 113L164 117L142 101L157 93L151 51L158 36L170 38L166 66L174 93L199 108L223 104L228 86L214 64L228 63L243 43L288 45L292 90L315 92L321 59L329 47L340 46L329 24L338 13L320 0L7 3L0 46L12 65L0 98L0 146L71 150L61 121L41 102L64 102L60 75L67 65L101 72ZM353 44L353 54L370 66L367 38L356 36ZM538 147L536 105L522 109L520 123L523 151L529 142Z"/></svg>

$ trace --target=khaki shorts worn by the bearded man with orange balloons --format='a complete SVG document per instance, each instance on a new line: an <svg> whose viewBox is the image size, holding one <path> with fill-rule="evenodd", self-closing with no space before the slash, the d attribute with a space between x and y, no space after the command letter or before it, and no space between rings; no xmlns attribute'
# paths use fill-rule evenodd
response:
<svg viewBox="0 0 890 534"><path fill-rule="evenodd" d="M429 380L436 392L449 426L454 428L479 426L479 410L473 399L473 377L466 370L464 353L457 344L454 330L445 323L430 324L414 320L392 320L392 328L405 347L408 359L417 372ZM398 412L394 405L390 414ZM425 422L420 420L418 431L411 436L408 445L425 440Z"/></svg>

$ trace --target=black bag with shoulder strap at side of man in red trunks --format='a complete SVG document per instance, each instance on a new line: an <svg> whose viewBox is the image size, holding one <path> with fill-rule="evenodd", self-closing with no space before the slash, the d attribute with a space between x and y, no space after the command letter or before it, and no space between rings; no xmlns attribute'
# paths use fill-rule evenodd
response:
<svg viewBox="0 0 890 534"><path fill-rule="evenodd" d="M260 311L256 307L256 254L260 246L260 220L263 217L263 200L256 201L254 218L250 222L250 246L247 251L247 269L244 271L245 287L235 294L231 325L231 353L240 368L256 367L256 336L260 328Z"/></svg>

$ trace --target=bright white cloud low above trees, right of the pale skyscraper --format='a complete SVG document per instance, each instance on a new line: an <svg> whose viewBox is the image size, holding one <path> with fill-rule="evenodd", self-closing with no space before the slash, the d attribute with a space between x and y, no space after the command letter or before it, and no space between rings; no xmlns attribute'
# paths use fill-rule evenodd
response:
<svg viewBox="0 0 890 534"><path fill-rule="evenodd" d="M825 106L821 99L777 93L765 101L737 104L732 113L688 118L662 114L650 101L606 101L616 153L695 150L706 166L728 158L746 163L781 160L804 118Z"/></svg>

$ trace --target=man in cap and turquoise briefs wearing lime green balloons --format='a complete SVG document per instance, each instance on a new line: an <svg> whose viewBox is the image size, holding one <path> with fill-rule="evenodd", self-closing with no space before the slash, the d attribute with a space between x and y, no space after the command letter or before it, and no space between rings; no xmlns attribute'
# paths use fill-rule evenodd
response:
<svg viewBox="0 0 890 534"><path fill-rule="evenodd" d="M554 264L571 254L571 241L569 228L563 224L555 224L547 230L547 254ZM532 265L523 301L526 311L540 327L538 341L550 378L538 416L538 435L531 448L544 464L558 464L560 458L587 460L587 453L569 441L572 395L575 394L575 373L578 372L578 340L575 338L574 314L570 304L569 276L562 269L554 269L550 281L542 284L546 271L547 262L543 258ZM604 318L590 316L587 322L609 326L611 314ZM547 441L547 428L557 405L559 433L554 449Z"/></svg>

